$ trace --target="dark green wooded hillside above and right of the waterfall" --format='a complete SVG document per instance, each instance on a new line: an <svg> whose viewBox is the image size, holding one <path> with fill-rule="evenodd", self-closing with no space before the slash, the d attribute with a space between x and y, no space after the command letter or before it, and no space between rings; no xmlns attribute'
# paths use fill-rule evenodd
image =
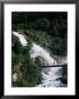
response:
<svg viewBox="0 0 79 99"><path fill-rule="evenodd" d="M13 12L12 23L13 30L25 31L30 41L50 50L53 54L67 54L66 12Z"/></svg>

